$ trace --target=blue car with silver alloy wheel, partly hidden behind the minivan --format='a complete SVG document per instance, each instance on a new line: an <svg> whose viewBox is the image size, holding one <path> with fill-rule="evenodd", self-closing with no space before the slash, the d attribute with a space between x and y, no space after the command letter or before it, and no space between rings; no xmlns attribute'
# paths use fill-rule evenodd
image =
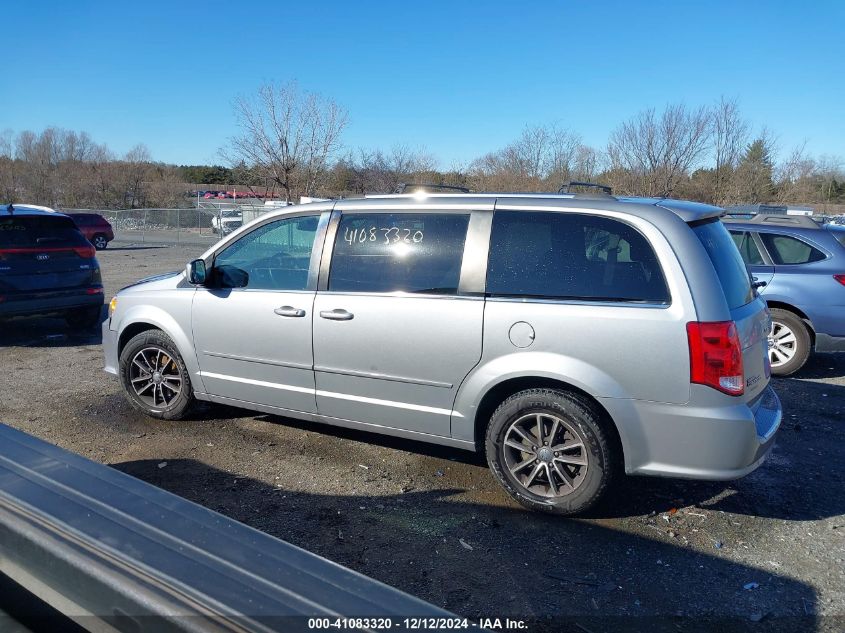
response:
<svg viewBox="0 0 845 633"><path fill-rule="evenodd" d="M808 216L723 218L772 314L772 373L845 351L845 226Z"/></svg>

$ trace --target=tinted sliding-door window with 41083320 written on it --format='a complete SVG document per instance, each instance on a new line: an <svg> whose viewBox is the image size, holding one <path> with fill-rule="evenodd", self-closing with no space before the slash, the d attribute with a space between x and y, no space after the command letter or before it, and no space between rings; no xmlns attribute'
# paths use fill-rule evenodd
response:
<svg viewBox="0 0 845 633"><path fill-rule="evenodd" d="M344 215L328 289L457 294L468 225L445 213Z"/></svg>

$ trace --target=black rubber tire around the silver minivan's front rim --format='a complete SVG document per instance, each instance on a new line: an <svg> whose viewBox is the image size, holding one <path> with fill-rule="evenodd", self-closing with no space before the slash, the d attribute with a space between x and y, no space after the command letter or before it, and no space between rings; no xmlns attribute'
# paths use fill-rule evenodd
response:
<svg viewBox="0 0 845 633"><path fill-rule="evenodd" d="M156 402L156 395L160 391L163 396L173 395L173 390L165 392L165 387L162 386L161 375L159 375L159 386L155 384L152 386L153 393L156 395L150 397L150 392L147 391L145 396L139 395L133 387L133 378L137 380L137 376L133 376L133 372L139 371L138 365L134 360L138 355L146 350L159 350L161 352L161 369L160 374L164 370L168 370L173 376L178 376L181 380L180 389L172 400L160 400ZM173 365L171 365L173 363ZM148 365L149 366L149 365ZM156 368L158 363L156 363ZM152 369L152 367L151 367ZM129 402L138 411L146 413L150 417L158 418L159 420L180 420L185 417L194 404L194 392L191 387L191 379L188 375L188 370L185 368L185 362L182 360L182 355L179 353L176 344L161 330L147 330L132 337L126 343L123 351L120 353L120 382L123 385L123 390L126 392L126 397ZM149 372L153 382L152 376L154 372ZM143 374L142 374L143 375ZM167 379L163 381L167 383ZM146 386L146 382L139 384L139 389ZM159 391L156 391L159 390Z"/></svg>

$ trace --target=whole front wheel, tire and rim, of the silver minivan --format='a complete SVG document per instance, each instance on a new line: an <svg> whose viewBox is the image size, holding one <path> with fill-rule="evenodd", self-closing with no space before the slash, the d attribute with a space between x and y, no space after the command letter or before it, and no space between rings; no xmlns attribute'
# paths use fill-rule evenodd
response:
<svg viewBox="0 0 845 633"><path fill-rule="evenodd" d="M194 402L182 356L160 330L129 340L120 353L120 379L132 406L160 420L183 418Z"/></svg>

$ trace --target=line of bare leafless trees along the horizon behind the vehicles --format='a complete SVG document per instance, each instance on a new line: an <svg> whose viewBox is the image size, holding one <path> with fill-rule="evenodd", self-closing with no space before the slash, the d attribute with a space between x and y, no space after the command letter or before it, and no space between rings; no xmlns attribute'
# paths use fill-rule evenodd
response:
<svg viewBox="0 0 845 633"><path fill-rule="evenodd" d="M560 124L526 126L506 146L450 170L425 149L351 150L346 110L295 83L262 86L235 102L238 133L221 149L226 165L157 162L144 145L114 154L86 132L47 128L0 133L0 200L59 208L175 207L191 183L299 196L389 193L400 182L476 191L557 191L568 181L600 182L618 195L670 196L720 206L845 203L839 157L804 146L780 151L736 100L670 104L636 113L602 148ZM781 158L778 158L778 157Z"/></svg>

